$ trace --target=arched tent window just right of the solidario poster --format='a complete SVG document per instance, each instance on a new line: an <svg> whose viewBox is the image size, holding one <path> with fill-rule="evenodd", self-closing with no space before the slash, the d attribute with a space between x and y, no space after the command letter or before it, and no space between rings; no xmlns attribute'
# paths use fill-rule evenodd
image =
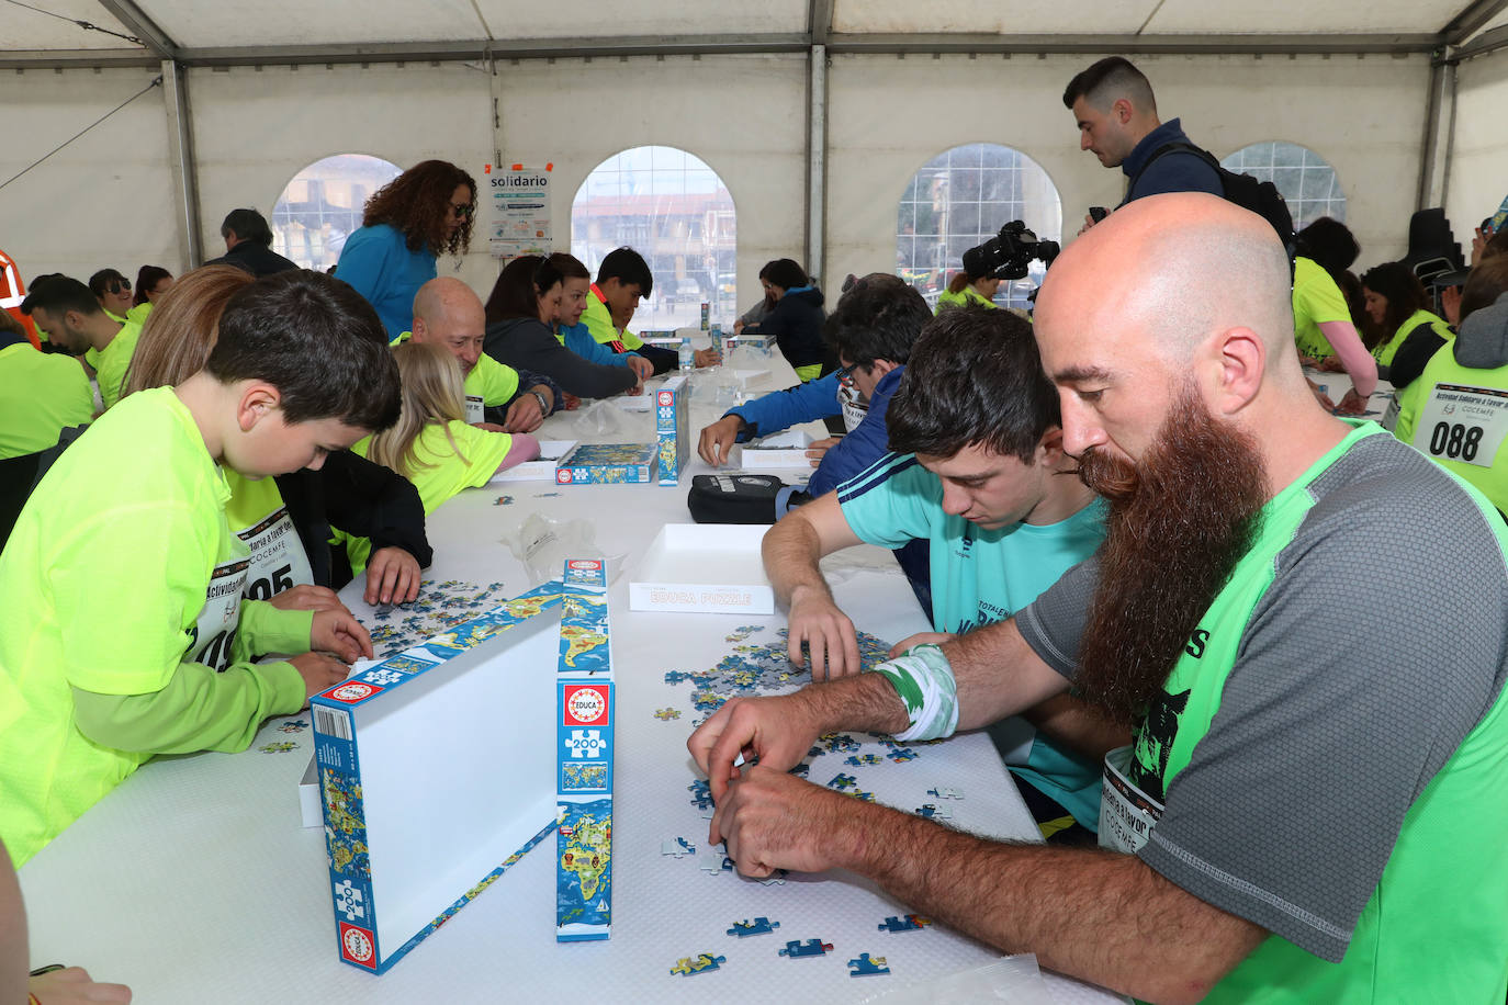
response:
<svg viewBox="0 0 1508 1005"><path fill-rule="evenodd" d="M597 164L570 206L570 247L591 274L627 244L644 256L654 291L639 301L633 331L713 322L731 330L737 226L718 172L674 146L635 146Z"/></svg>

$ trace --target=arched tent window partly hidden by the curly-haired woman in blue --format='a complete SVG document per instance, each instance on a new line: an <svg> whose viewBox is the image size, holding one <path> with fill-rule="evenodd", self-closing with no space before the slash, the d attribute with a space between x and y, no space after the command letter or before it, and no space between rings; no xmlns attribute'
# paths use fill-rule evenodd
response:
<svg viewBox="0 0 1508 1005"><path fill-rule="evenodd" d="M273 250L323 273L341 259L371 194L401 173L397 164L368 154L317 160L293 176L273 205Z"/></svg>

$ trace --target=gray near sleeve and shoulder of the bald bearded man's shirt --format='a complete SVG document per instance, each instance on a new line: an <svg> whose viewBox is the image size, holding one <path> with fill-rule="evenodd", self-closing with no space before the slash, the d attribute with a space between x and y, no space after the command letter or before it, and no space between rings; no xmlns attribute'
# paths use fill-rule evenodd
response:
<svg viewBox="0 0 1508 1005"><path fill-rule="evenodd" d="M1393 466L1326 496L1336 467L1140 851L1330 961L1404 815L1496 699L1508 621L1502 550L1460 487Z"/></svg>

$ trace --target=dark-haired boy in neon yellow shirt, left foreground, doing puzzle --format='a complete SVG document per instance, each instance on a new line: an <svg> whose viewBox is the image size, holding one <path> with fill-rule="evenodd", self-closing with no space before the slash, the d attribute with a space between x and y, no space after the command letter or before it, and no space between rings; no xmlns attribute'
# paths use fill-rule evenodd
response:
<svg viewBox="0 0 1508 1005"><path fill-rule="evenodd" d="M131 395L53 466L0 554L0 832L24 863L154 753L241 750L371 655L344 610L241 601L220 464L318 469L398 417L398 372L345 283L237 294L204 369ZM252 664L250 652L299 652Z"/></svg>

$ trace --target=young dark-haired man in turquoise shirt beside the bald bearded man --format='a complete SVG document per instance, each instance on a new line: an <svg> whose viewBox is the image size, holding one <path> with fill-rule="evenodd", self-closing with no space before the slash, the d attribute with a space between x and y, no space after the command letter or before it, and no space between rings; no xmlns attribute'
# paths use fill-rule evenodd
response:
<svg viewBox="0 0 1508 1005"><path fill-rule="evenodd" d="M790 604L792 658L805 642L814 680L860 669L854 624L817 567L838 548L930 544L938 634L899 642L897 651L1004 621L1093 554L1105 533L1104 508L1072 476L1060 422L1030 324L982 307L929 322L887 413L896 452L793 509L765 536L765 568ZM1128 734L1108 731L1089 756L1031 725L1066 720L1074 705L1063 696L1028 710L1001 726L997 743L1044 836L1083 841L1098 830L1098 758Z"/></svg>

